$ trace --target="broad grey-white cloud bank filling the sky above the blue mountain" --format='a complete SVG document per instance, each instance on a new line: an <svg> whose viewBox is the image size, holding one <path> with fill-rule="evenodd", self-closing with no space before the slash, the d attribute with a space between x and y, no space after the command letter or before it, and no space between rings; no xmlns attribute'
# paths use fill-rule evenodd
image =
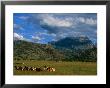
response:
<svg viewBox="0 0 110 88"><path fill-rule="evenodd" d="M96 36L93 30L97 29L97 18L74 14L34 14L34 24L39 24L45 32L36 33L41 40L46 36L52 36L53 40L74 36ZM95 34L94 34L95 33Z"/></svg>

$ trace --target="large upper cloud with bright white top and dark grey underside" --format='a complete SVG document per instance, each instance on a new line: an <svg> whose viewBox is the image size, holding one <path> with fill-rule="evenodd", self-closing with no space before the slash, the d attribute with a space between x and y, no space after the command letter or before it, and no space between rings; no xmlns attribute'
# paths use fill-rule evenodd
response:
<svg viewBox="0 0 110 88"><path fill-rule="evenodd" d="M73 31L79 27L97 25L97 20L92 17L81 17L81 16L65 16L59 17L54 14L39 14L37 17L34 15L35 19L39 19L39 24L42 28L50 33L60 33ZM84 29L84 28L82 28ZM81 29L81 30L82 30ZM86 29L86 28L85 28ZM84 29L84 30L85 30Z"/></svg>

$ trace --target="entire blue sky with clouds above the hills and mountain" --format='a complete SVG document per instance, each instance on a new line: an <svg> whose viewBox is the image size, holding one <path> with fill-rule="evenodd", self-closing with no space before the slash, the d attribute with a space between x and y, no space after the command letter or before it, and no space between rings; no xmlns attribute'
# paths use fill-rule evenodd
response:
<svg viewBox="0 0 110 88"><path fill-rule="evenodd" d="M47 44L65 37L97 43L96 13L14 13L14 40Z"/></svg>

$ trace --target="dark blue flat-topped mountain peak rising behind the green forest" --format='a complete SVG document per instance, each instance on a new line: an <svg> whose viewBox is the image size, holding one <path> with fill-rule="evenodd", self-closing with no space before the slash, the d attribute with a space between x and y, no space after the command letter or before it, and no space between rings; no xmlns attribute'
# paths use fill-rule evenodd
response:
<svg viewBox="0 0 110 88"><path fill-rule="evenodd" d="M88 37L66 37L56 42L50 42L49 44L57 49L90 49L94 47L94 44Z"/></svg>

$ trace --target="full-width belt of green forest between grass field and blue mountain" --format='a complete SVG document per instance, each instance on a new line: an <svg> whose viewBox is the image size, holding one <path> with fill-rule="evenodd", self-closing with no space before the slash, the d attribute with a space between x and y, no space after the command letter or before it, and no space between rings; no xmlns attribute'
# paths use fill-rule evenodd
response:
<svg viewBox="0 0 110 88"><path fill-rule="evenodd" d="M56 49L49 44L14 41L15 60L96 61L97 48Z"/></svg>

